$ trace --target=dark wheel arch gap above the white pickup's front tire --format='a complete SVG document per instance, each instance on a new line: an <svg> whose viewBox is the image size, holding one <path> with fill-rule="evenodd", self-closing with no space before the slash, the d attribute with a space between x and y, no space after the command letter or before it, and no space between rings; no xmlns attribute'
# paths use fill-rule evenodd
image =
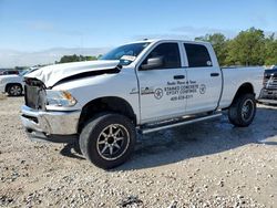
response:
<svg viewBox="0 0 277 208"><path fill-rule="evenodd" d="M105 96L92 100L82 107L78 124L78 133L81 133L84 124L90 118L101 112L113 112L125 115L136 125L136 115L132 105L126 100L117 96Z"/></svg>

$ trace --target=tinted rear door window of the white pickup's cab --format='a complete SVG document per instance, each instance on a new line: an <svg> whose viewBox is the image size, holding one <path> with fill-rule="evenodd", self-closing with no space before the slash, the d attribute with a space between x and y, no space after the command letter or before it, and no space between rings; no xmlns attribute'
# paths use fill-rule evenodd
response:
<svg viewBox="0 0 277 208"><path fill-rule="evenodd" d="M206 46L201 44L184 44L188 60L188 67L213 66L212 60Z"/></svg>

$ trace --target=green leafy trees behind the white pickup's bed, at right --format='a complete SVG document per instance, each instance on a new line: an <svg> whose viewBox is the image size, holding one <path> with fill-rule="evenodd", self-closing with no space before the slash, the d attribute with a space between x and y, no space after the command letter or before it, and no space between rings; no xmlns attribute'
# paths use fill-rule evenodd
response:
<svg viewBox="0 0 277 208"><path fill-rule="evenodd" d="M232 40L214 33L195 40L211 42L220 65L274 65L277 64L275 34L265 37L264 31L250 28Z"/></svg>

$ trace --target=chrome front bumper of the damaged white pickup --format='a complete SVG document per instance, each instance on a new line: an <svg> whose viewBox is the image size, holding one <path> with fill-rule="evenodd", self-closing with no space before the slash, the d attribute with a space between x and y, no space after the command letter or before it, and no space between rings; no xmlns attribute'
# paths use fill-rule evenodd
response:
<svg viewBox="0 0 277 208"><path fill-rule="evenodd" d="M21 121L31 139L54 143L72 143L78 139L78 123L81 111L44 112L21 107Z"/></svg>

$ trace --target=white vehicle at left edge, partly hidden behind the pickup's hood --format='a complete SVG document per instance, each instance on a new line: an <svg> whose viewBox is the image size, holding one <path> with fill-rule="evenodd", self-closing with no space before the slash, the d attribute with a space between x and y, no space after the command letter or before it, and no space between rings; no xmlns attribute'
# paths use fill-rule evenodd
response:
<svg viewBox="0 0 277 208"><path fill-rule="evenodd" d="M0 76L0 93L8 93L10 96L20 96L24 91L23 75L38 70L30 67L19 74L7 74Z"/></svg>

